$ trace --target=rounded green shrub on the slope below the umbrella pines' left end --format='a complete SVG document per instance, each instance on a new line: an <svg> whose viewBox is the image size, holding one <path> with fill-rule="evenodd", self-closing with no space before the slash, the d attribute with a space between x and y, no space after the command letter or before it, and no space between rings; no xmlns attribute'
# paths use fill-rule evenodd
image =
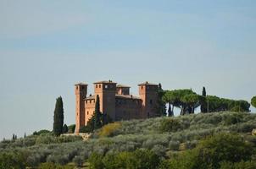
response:
<svg viewBox="0 0 256 169"><path fill-rule="evenodd" d="M178 129L181 129L181 123L175 118L165 118L160 124L159 129L161 132L176 132Z"/></svg>

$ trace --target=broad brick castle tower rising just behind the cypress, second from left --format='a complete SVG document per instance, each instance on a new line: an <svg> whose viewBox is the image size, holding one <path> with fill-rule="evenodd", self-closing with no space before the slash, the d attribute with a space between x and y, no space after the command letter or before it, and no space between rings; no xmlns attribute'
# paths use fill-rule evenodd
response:
<svg viewBox="0 0 256 169"><path fill-rule="evenodd" d="M115 120L116 83L111 80L96 82L94 83L94 92L95 97L99 96L100 111Z"/></svg>

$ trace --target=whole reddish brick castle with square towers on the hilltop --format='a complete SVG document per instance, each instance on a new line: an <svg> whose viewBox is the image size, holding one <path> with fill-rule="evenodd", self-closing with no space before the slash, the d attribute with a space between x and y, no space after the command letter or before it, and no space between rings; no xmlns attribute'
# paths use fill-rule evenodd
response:
<svg viewBox="0 0 256 169"><path fill-rule="evenodd" d="M130 95L130 87L113 81L99 81L94 85L94 95L87 96L86 84L75 85L75 133L85 126L95 111L96 96L99 96L100 112L113 121L156 117L158 85L148 82L139 86L139 97Z"/></svg>

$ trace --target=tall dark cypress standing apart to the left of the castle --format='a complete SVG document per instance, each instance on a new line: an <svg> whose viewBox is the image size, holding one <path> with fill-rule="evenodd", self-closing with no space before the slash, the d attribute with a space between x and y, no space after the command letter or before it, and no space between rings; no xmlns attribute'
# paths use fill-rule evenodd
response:
<svg viewBox="0 0 256 169"><path fill-rule="evenodd" d="M56 100L54 117L53 117L53 133L55 135L62 134L63 123L64 123L63 101L61 96L59 96Z"/></svg>

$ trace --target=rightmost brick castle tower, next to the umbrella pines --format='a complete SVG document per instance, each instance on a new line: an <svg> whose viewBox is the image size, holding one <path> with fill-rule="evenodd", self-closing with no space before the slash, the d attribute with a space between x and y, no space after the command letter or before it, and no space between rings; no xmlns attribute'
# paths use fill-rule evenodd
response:
<svg viewBox="0 0 256 169"><path fill-rule="evenodd" d="M139 86L139 95L142 99L142 118L156 117L158 107L158 85L148 82Z"/></svg>

